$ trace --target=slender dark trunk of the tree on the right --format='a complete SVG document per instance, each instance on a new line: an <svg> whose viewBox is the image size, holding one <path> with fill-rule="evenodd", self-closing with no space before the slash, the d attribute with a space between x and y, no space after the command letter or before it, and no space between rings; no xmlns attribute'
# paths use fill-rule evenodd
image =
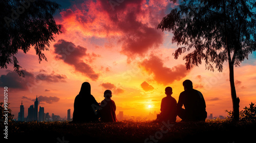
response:
<svg viewBox="0 0 256 143"><path fill-rule="evenodd" d="M239 102L240 99L237 98L236 88L234 87L234 63L228 62L229 65L229 81L231 88L231 98L233 103L233 120L239 121Z"/></svg>

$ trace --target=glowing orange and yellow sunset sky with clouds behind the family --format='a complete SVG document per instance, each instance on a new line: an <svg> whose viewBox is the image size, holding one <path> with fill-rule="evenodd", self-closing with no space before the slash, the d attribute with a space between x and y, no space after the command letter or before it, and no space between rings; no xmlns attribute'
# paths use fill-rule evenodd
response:
<svg viewBox="0 0 256 143"><path fill-rule="evenodd" d="M67 117L68 109L73 113L74 99L85 81L91 84L97 102L104 99L104 90L112 90L116 114L158 113L165 87L173 88L178 102L186 79L203 93L208 115L226 116L224 110L232 110L227 62L222 73L206 70L204 63L186 70L182 60L186 53L177 60L172 56L178 47L172 43L173 34L157 29L175 7L169 0L55 2L61 5L54 17L62 33L55 36L50 50L44 51L48 61L39 64L31 47L27 54L19 51L16 55L25 78L18 77L13 65L0 69L0 101L4 101L7 86L14 118L22 101L27 117L36 96L45 113ZM252 53L249 60L234 68L240 110L256 102L255 59L256 53Z"/></svg>

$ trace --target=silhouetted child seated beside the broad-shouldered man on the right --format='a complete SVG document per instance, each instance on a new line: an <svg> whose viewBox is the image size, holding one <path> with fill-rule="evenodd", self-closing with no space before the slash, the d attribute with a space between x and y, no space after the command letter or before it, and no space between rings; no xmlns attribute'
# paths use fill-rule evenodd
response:
<svg viewBox="0 0 256 143"><path fill-rule="evenodd" d="M158 116L159 121L169 121L169 122L176 122L176 105L177 101L175 98L172 97L173 89L172 87L165 88L166 97L162 99L161 102L161 113Z"/></svg>

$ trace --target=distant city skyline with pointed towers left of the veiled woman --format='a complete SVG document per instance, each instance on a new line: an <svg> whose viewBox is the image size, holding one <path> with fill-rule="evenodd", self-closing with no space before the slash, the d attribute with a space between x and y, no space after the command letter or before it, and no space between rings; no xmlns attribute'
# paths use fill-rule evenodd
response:
<svg viewBox="0 0 256 143"><path fill-rule="evenodd" d="M52 115L50 115L48 112L45 113L45 108L39 106L39 111L38 111L38 99L36 96L34 105L30 105L30 107L28 108L28 116L24 117L24 105L22 103L22 105L19 106L19 113L18 113L18 121L21 122L31 122L31 121L37 121L37 122L42 122L42 121L47 121L47 122L51 122L51 121L65 121L62 118L60 118L59 115L55 115L54 113L52 113ZM68 121L71 121L71 116L70 116L70 109L68 109Z"/></svg>

